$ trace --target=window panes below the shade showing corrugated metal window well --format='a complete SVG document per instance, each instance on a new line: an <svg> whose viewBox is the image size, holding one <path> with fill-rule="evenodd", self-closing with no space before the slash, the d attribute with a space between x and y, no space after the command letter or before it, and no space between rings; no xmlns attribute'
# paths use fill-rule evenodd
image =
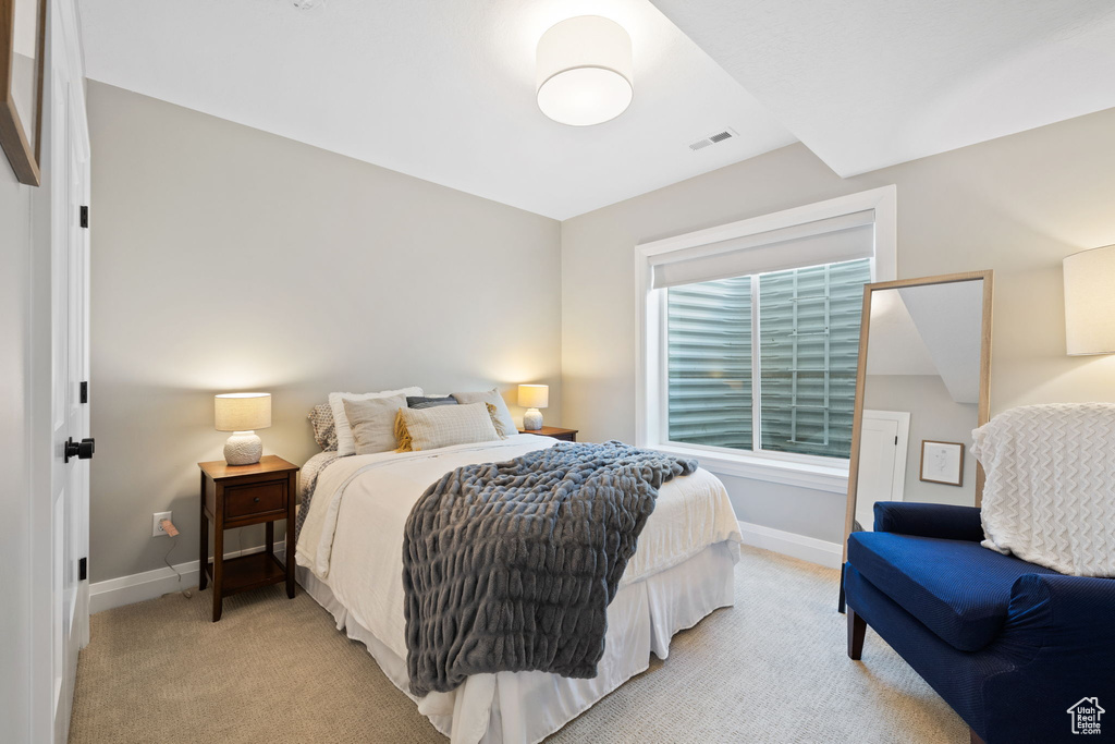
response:
<svg viewBox="0 0 1115 744"><path fill-rule="evenodd" d="M859 259L667 289L668 441L847 457L870 281Z"/></svg>

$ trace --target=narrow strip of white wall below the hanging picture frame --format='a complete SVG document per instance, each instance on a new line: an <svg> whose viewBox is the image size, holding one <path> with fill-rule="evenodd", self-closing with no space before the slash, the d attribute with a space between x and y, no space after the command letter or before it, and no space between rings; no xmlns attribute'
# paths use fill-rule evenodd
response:
<svg viewBox="0 0 1115 744"><path fill-rule="evenodd" d="M30 737L31 193L0 154L0 725L12 742Z"/></svg>

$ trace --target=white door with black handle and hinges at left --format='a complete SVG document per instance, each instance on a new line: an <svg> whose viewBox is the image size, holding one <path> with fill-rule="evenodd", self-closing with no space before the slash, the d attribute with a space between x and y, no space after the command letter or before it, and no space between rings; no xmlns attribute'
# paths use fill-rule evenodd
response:
<svg viewBox="0 0 1115 744"><path fill-rule="evenodd" d="M65 742L78 650L89 637L89 148L84 105L66 75L52 91L51 163L51 682L54 741ZM83 571L86 576L83 576Z"/></svg>

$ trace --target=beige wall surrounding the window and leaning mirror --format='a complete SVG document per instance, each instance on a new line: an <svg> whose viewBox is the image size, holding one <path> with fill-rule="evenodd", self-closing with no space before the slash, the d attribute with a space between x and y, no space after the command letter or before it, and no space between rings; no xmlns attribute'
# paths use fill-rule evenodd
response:
<svg viewBox="0 0 1115 744"><path fill-rule="evenodd" d="M993 269L992 413L1115 400L1065 356L1060 260L1115 243L1115 109L842 180L797 144L562 223L562 419L634 436L637 243L898 185L899 277ZM699 156L699 155L698 155ZM844 499L725 479L740 519L838 541Z"/></svg>

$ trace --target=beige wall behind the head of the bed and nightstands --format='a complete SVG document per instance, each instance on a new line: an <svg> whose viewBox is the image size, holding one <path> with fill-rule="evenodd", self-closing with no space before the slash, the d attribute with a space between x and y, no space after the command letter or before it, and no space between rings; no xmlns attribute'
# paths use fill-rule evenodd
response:
<svg viewBox="0 0 1115 744"><path fill-rule="evenodd" d="M331 390L547 383L560 423L558 222L103 84L89 108L93 581L163 566L156 511L197 558L214 393L271 392L295 463Z"/></svg>

